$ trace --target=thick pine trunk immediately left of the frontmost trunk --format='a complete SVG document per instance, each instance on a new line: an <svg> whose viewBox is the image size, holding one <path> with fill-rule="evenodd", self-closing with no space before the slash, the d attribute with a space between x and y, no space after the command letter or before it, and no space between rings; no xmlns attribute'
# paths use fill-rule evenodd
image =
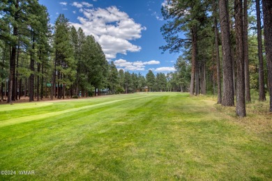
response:
<svg viewBox="0 0 272 181"><path fill-rule="evenodd" d="M232 74L232 51L229 34L229 13L227 1L219 0L219 14L222 36L222 55L223 55L223 95L222 106L234 106L234 82Z"/></svg>

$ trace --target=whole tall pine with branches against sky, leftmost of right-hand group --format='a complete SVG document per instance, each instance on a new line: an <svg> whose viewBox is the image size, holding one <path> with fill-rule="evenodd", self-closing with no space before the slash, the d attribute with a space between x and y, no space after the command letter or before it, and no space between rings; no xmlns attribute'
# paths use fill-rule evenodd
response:
<svg viewBox="0 0 272 181"><path fill-rule="evenodd" d="M207 16L206 10L209 8L209 3L206 1L178 1L168 0L167 5L163 6L163 17L168 20L161 28L163 38L167 45L160 47L163 51L169 49L169 52L180 52L186 45L190 44L191 48L191 80L190 80L190 95L197 91L195 85L198 86L197 79L198 68L198 42L206 35L201 33L206 25ZM186 38L181 38L181 31L186 32ZM196 84L195 84L195 81Z"/></svg>

